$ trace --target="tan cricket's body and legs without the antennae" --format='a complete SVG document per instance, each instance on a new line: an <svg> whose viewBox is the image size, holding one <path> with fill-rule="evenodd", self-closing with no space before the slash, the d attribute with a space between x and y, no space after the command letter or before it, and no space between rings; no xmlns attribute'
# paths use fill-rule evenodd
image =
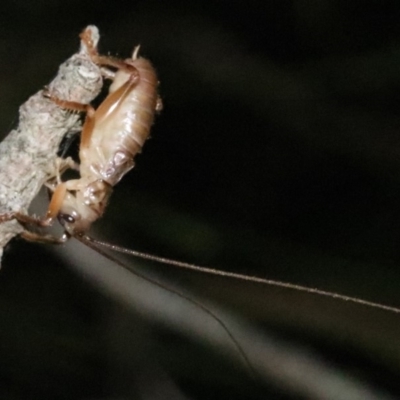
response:
<svg viewBox="0 0 400 400"><path fill-rule="evenodd" d="M16 218L24 225L39 226L49 226L58 218L64 226L65 234L61 238L25 231L22 236L28 240L62 243L70 236L86 232L102 216L113 186L134 166L133 159L149 136L155 111L162 107L156 72L150 61L138 57L139 47L134 49L132 58L119 60L98 55L87 30L81 39L96 64L114 67L117 71L103 70L113 83L97 110L45 93L62 108L87 113L79 150L80 178L66 182L57 179L45 218L21 213L1 217L2 221ZM65 160L60 165L62 170L65 166L72 167ZM59 171L56 175L59 176Z"/></svg>

